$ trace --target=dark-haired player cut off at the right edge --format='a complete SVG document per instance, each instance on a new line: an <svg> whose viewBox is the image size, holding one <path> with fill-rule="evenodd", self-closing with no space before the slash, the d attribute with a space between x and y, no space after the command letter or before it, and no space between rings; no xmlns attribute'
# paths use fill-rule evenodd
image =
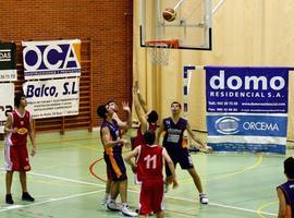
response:
<svg viewBox="0 0 294 218"><path fill-rule="evenodd" d="M279 218L294 217L294 158L284 161L284 173L287 181L277 187L279 197Z"/></svg>

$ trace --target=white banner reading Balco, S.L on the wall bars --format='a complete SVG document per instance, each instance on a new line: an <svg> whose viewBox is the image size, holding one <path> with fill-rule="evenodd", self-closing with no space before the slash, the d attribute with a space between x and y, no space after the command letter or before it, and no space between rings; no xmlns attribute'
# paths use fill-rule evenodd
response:
<svg viewBox="0 0 294 218"><path fill-rule="evenodd" d="M28 81L23 90L34 119L78 114L78 77Z"/></svg>

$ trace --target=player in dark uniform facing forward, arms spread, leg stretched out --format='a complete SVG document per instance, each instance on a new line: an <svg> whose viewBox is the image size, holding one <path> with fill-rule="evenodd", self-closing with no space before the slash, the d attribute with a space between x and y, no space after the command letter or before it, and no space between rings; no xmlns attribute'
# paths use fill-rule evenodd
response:
<svg viewBox="0 0 294 218"><path fill-rule="evenodd" d="M192 158L188 154L187 145L183 141L184 131L186 130L191 137L201 145L201 148L209 152L211 148L206 146L199 138L195 136L191 130L189 123L186 119L181 117L181 104L174 101L171 104L172 117L163 119L157 135L157 142L159 142L160 135L164 132L163 147L166 147L168 154L170 155L174 167L179 162L182 169L188 171L193 178L194 184L199 192L199 199L201 204L208 204L208 198L206 194L203 193L203 185L200 177L196 172ZM169 168L166 168L167 178L171 175ZM167 183L166 183L167 184ZM166 192L168 191L168 185L166 186Z"/></svg>

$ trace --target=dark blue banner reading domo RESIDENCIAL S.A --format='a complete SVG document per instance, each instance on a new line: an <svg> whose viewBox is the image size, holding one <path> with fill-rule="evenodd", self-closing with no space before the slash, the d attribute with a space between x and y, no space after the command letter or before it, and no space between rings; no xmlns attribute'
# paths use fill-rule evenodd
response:
<svg viewBox="0 0 294 218"><path fill-rule="evenodd" d="M289 68L205 70L207 112L287 112Z"/></svg>

